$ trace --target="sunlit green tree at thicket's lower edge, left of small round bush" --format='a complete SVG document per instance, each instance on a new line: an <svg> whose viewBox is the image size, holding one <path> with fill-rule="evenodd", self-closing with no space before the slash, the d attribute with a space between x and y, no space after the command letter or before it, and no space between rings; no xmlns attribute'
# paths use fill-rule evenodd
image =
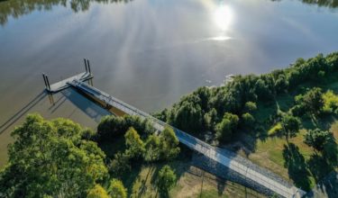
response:
<svg viewBox="0 0 338 198"><path fill-rule="evenodd" d="M229 140L233 135L233 130L237 128L239 118L230 112L224 113L223 120L216 125L216 137L219 140Z"/></svg>

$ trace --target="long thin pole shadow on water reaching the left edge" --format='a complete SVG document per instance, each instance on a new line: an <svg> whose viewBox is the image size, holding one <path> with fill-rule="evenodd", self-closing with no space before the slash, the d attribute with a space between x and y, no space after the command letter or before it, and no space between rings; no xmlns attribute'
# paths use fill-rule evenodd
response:
<svg viewBox="0 0 338 198"><path fill-rule="evenodd" d="M21 110L16 112L11 118L9 118L7 121L5 121L0 126L0 134L2 134L5 130L7 130L9 127L11 127L15 121L18 121L20 118L22 118L27 112L29 112L32 107L34 107L37 103L41 102L43 98L47 95L46 92L42 91L40 94L36 95L32 101L25 104Z"/></svg>

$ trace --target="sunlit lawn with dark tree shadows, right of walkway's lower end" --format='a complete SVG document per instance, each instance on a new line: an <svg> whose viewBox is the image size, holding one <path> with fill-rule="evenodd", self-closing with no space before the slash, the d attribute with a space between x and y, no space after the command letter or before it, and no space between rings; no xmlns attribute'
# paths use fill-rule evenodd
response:
<svg viewBox="0 0 338 198"><path fill-rule="evenodd" d="M331 131L333 137L338 139L338 121L335 121L332 125ZM292 138L289 142L282 137L269 137L264 140L258 139L256 142L256 149L252 152L248 158L252 162L268 168L270 171L281 175L286 180L295 183L298 187L304 190L310 190L319 182L325 175L330 173L336 166L330 166L327 164L323 155L315 152L313 148L308 147L303 142L303 136L306 130L300 130L297 137ZM293 150L293 154L297 152L294 165L290 165L288 157L285 157L288 144L294 145L296 148ZM300 159L299 159L300 158ZM301 175L294 175L297 171L297 167L306 170L306 173ZM297 181L300 179L300 181Z"/></svg>

